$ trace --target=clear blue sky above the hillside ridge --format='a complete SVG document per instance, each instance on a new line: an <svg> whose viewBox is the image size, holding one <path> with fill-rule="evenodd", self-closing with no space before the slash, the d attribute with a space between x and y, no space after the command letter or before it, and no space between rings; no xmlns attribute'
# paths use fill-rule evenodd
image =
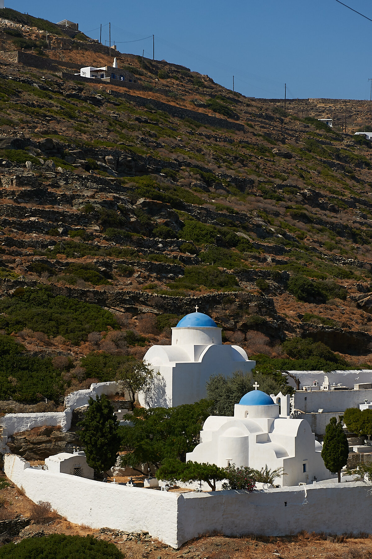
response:
<svg viewBox="0 0 372 559"><path fill-rule="evenodd" d="M370 0L345 0L372 19ZM79 29L123 53L183 64L251 97L369 99L372 22L336 0L5 0L6 7ZM98 28L98 29L97 29ZM151 39L134 41L151 36ZM88 63L88 60L87 60Z"/></svg>

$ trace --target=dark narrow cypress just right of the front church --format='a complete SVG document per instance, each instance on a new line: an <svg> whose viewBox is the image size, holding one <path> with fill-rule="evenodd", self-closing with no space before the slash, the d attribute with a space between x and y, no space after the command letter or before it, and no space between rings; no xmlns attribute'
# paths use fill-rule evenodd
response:
<svg viewBox="0 0 372 559"><path fill-rule="evenodd" d="M342 416L331 418L326 425L322 458L327 470L337 472L338 483L341 483L341 469L346 465L349 457L349 443L341 423Z"/></svg>

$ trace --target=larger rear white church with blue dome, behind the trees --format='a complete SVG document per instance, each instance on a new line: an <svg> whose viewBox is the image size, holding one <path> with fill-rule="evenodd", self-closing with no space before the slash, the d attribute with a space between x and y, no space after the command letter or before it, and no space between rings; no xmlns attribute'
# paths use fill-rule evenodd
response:
<svg viewBox="0 0 372 559"><path fill-rule="evenodd" d="M221 331L202 312L184 316L172 328L171 345L152 345L146 352L155 379L151 392L139 394L140 403L151 408L193 404L206 397L211 375L251 371L256 362L239 345L223 345Z"/></svg>

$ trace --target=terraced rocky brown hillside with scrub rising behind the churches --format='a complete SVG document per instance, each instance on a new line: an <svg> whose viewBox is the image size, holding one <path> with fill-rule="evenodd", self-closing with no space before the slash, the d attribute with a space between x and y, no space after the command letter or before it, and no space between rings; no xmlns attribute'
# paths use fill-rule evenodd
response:
<svg viewBox="0 0 372 559"><path fill-rule="evenodd" d="M372 146L353 135L370 102L347 101L345 134L345 101L284 112L0 17L12 18L0 19L0 326L23 344L25 375L42 361L51 379L26 393L3 366L0 398L58 401L109 380L80 359L141 358L196 304L250 356L289 367L280 344L310 337L341 354L334 364L372 366ZM131 82L73 75L113 55ZM316 120L330 116L333 129Z"/></svg>

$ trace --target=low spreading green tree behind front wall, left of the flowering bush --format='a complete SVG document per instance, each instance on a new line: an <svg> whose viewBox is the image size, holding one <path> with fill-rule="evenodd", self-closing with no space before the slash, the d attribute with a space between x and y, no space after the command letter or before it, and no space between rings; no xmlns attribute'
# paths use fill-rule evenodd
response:
<svg viewBox="0 0 372 559"><path fill-rule="evenodd" d="M226 479L226 471L216 464L199 462L180 462L179 460L167 460L156 472L158 480L182 481L186 484L191 481L205 481L212 491L216 491L216 481Z"/></svg>

